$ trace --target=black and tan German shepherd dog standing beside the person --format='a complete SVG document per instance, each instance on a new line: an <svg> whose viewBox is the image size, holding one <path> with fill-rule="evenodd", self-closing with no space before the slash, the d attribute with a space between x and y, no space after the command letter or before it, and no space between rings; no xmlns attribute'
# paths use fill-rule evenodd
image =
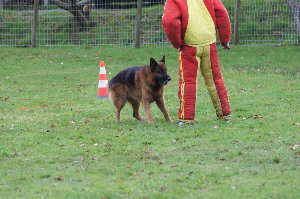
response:
<svg viewBox="0 0 300 199"><path fill-rule="evenodd" d="M120 111L127 101L132 105L132 116L138 120L144 121L139 115L142 102L148 124L153 123L150 104L155 101L165 119L173 122L165 108L164 99L165 85L170 80L165 66L165 55L161 61L150 58L149 65L132 66L119 72L107 84L109 98L116 106L116 122L121 122Z"/></svg>

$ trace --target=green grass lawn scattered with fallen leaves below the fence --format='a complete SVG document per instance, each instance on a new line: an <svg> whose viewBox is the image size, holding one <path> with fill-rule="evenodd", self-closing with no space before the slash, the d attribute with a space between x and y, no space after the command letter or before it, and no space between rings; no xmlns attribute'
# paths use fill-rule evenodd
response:
<svg viewBox="0 0 300 199"><path fill-rule="evenodd" d="M95 99L100 61L111 79L166 54L166 107L178 121L176 49L1 48L0 195L299 197L299 47L231 47L219 59L232 122L217 120L199 78L196 125L181 127L155 104L154 124L128 104L117 124L109 99Z"/></svg>

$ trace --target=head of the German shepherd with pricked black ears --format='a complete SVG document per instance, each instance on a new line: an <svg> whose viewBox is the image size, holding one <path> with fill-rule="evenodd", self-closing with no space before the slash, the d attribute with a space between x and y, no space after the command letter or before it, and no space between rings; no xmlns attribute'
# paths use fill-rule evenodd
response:
<svg viewBox="0 0 300 199"><path fill-rule="evenodd" d="M161 61L158 62L152 57L150 58L150 71L155 76L157 82L162 85L166 85L171 81L171 77L167 74L167 68L165 66L165 55Z"/></svg>

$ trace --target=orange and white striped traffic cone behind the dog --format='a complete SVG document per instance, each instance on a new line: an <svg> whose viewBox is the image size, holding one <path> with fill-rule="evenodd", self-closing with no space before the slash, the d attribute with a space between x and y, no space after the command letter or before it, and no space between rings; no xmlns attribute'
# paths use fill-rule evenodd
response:
<svg viewBox="0 0 300 199"><path fill-rule="evenodd" d="M108 84L104 61L100 61L99 71L99 84L98 84L98 95L96 99L108 98L108 91L106 85Z"/></svg>

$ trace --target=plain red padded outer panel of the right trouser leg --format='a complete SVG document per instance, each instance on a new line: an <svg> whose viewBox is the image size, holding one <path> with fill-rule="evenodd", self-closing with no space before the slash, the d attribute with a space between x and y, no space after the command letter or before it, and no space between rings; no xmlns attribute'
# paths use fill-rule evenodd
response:
<svg viewBox="0 0 300 199"><path fill-rule="evenodd" d="M224 80L220 71L220 64L218 61L216 43L210 44L210 62L211 62L211 70L212 70L214 83L217 89L218 97L222 108L222 115L220 115L220 113L218 114L219 111L216 109L217 116L218 117L228 116L230 115L231 110L230 110L230 104L228 100L227 89L224 85Z"/></svg>

